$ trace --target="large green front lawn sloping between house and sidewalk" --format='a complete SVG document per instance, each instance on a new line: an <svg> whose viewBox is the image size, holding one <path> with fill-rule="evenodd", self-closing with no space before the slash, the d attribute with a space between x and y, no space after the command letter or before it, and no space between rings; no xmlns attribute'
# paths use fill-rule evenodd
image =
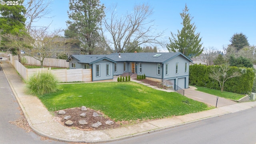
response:
<svg viewBox="0 0 256 144"><path fill-rule="evenodd" d="M62 90L38 96L49 111L86 106L115 121L166 118L211 109L176 92L135 82L62 84Z"/></svg>

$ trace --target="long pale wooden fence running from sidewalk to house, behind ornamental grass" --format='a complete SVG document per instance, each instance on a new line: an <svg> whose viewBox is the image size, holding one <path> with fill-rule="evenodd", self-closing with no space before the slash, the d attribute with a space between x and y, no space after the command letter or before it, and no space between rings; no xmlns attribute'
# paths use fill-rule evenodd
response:
<svg viewBox="0 0 256 144"><path fill-rule="evenodd" d="M26 68L23 66L14 56L10 56L10 62L22 76L24 80L36 72L52 72L59 82L91 82L92 81L92 69L58 69L48 70L48 68Z"/></svg>

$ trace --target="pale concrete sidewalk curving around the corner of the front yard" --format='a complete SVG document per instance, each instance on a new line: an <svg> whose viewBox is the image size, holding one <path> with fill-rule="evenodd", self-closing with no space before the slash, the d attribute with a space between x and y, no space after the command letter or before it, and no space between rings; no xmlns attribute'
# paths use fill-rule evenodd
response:
<svg viewBox="0 0 256 144"><path fill-rule="evenodd" d="M11 64L3 62L1 67L34 132L41 136L66 142L96 143L115 141L196 122L198 120L238 112L256 106L256 102L235 103L204 112L174 116L172 118L143 122L116 129L92 131L76 130L55 122L53 116L36 96L27 95L25 93L25 84Z"/></svg>

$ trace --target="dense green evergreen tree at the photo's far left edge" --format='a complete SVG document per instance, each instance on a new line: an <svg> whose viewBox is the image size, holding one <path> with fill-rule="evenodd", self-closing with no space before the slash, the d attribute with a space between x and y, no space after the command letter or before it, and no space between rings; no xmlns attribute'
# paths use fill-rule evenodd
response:
<svg viewBox="0 0 256 144"><path fill-rule="evenodd" d="M20 48L26 45L23 38L28 36L25 29L26 18L23 16L25 12L26 9L22 5L0 5L0 49L9 49L13 55L18 55L19 62L21 61ZM12 44L13 39L18 45Z"/></svg>

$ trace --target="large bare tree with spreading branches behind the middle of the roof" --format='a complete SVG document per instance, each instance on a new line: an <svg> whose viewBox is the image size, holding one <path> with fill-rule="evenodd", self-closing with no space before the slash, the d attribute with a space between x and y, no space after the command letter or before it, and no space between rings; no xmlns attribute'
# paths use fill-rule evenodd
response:
<svg viewBox="0 0 256 144"><path fill-rule="evenodd" d="M110 33L112 40L107 40L103 35L104 46L110 52L123 52L126 44L138 42L138 46L141 44L160 44L159 41L163 32L157 33L154 31L154 20L149 20L149 17L153 14L153 9L146 4L135 5L134 12L126 16L117 16L115 11L116 6L110 10L110 18L104 18L103 24L105 30ZM114 46L114 50L111 46Z"/></svg>

